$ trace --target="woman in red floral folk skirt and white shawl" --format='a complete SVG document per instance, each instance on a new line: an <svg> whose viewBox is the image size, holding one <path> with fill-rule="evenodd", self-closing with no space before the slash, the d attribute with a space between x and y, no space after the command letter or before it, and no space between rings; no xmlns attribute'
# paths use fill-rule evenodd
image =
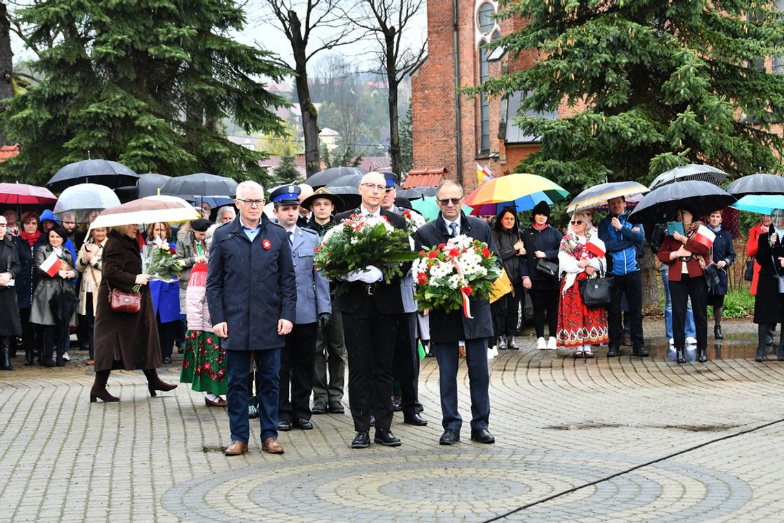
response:
<svg viewBox="0 0 784 523"><path fill-rule="evenodd" d="M575 358L593 358L592 345L607 343L607 311L583 303L579 281L607 267L604 242L585 212L575 212L558 251L561 302L558 304L558 347L575 349Z"/></svg>

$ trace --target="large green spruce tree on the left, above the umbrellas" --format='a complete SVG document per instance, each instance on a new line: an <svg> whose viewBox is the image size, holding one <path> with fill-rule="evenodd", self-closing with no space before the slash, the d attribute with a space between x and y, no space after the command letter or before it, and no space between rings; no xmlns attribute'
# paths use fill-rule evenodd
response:
<svg viewBox="0 0 784 523"><path fill-rule="evenodd" d="M268 53L235 42L230 0L44 0L20 12L41 82L2 114L22 154L5 177L43 183L69 162L117 160L139 172L199 171L263 180L263 154L230 143L219 122L280 133L285 104L255 78L281 79ZM54 42L54 43L52 43Z"/></svg>

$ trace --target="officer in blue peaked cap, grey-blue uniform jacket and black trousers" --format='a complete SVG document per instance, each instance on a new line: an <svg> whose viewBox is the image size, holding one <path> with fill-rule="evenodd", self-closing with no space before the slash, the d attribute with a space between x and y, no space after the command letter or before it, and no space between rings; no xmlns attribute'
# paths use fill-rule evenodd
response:
<svg viewBox="0 0 784 523"><path fill-rule="evenodd" d="M329 283L313 264L318 234L297 225L300 189L296 185L278 187L270 200L278 224L286 231L296 274L296 318L281 352L281 393L278 430L310 430L310 390L316 350L316 332L327 329L332 319Z"/></svg>

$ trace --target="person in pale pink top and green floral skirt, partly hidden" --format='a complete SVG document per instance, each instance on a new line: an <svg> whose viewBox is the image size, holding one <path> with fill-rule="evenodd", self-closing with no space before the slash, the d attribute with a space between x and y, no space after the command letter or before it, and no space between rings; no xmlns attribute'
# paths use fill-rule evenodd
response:
<svg viewBox="0 0 784 523"><path fill-rule="evenodd" d="M213 225L206 232L205 256L209 257ZM208 407L225 407L226 400L220 397L228 390L229 376L226 373L226 351L220 347L220 337L212 330L212 321L207 308L207 262L198 261L191 269L185 291L185 310L188 330L185 333L185 354L180 370L180 382L191 383L192 389L206 392Z"/></svg>

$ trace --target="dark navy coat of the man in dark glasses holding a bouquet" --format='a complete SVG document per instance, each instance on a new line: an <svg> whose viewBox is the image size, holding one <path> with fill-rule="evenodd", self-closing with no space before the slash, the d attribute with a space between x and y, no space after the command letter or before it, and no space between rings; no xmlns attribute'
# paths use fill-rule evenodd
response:
<svg viewBox="0 0 784 523"><path fill-rule="evenodd" d="M495 247L495 239L490 226L484 220L460 214L460 234L466 234L475 240L485 242L489 249L499 256ZM430 249L438 244L446 243L450 238L441 213L435 220L426 223L416 231L416 250ZM500 258L499 258L500 259ZM470 299L471 314L474 318L466 318L463 311L445 312L430 311L430 340L435 342L454 342L459 340L477 340L492 338L492 314L490 302Z"/></svg>

